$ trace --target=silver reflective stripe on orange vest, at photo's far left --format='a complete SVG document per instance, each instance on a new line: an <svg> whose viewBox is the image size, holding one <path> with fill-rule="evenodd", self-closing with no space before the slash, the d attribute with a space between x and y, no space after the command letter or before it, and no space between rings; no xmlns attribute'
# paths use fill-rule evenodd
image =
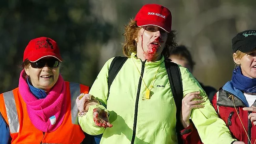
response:
<svg viewBox="0 0 256 144"><path fill-rule="evenodd" d="M20 123L13 91L11 90L9 92L5 92L3 93L3 96L4 104L6 105L6 114L9 123L10 133L18 133L20 129Z"/></svg>

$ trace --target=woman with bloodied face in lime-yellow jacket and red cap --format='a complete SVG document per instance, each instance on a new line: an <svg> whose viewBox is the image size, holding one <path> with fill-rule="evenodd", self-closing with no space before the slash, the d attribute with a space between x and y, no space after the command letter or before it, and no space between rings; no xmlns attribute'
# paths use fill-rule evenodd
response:
<svg viewBox="0 0 256 144"><path fill-rule="evenodd" d="M124 62L108 89L109 59L100 70L89 94L109 112L113 127L97 127L93 113L79 117L83 131L103 133L101 144L176 144L176 107L165 60L176 46L171 30L171 12L158 4L144 5L125 27ZM190 115L205 143L236 143L230 131L211 106L206 93L192 74L179 66L183 96L203 100ZM157 87L160 85L161 87ZM163 85L163 86L162 86ZM89 107L95 110L98 105ZM180 112L177 112L180 113ZM220 134L221 133L221 134Z"/></svg>

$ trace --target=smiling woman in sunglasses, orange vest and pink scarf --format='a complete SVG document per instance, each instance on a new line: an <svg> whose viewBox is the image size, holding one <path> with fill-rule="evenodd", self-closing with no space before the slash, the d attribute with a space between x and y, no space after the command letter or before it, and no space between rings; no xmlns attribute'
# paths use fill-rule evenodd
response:
<svg viewBox="0 0 256 144"><path fill-rule="evenodd" d="M39 37L28 43L19 87L0 94L0 114L11 143L80 144L85 138L78 124L76 97L88 93L89 87L64 81L59 74L61 61L54 40ZM95 113L104 114L108 122L107 112L101 109Z"/></svg>

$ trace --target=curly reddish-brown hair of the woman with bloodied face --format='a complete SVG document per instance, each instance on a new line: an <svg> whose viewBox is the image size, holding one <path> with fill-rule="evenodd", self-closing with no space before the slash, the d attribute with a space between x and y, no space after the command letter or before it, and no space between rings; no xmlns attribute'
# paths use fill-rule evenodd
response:
<svg viewBox="0 0 256 144"><path fill-rule="evenodd" d="M141 27L137 26L137 22L134 19L130 19L130 22L125 26L123 36L125 42L123 44L122 52L126 57L130 57L132 52L137 52L137 44L135 39L138 37L138 33ZM171 51L177 46L176 44L176 31L172 30L167 33L167 41L163 48L163 56L169 57Z"/></svg>

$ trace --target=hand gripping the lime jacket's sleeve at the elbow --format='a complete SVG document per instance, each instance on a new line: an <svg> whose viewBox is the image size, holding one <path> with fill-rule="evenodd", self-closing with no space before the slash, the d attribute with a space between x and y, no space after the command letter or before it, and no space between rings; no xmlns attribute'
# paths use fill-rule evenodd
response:
<svg viewBox="0 0 256 144"><path fill-rule="evenodd" d="M202 97L199 96L198 94L200 94L200 92L191 92L191 93L188 93L182 99L182 110L180 111L180 120L184 128L190 125L189 118L190 118L192 109L199 109L204 107L204 105L200 105L200 104L204 103L205 101L202 100ZM199 100L196 100L196 99L199 99Z"/></svg>

